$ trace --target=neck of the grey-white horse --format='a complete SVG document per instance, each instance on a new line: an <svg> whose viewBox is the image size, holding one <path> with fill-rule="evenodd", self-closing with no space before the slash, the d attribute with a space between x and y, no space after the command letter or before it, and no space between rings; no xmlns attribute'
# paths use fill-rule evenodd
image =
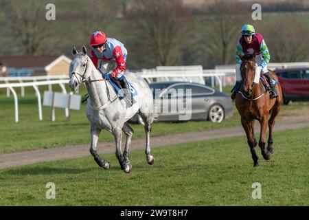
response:
<svg viewBox="0 0 309 220"><path fill-rule="evenodd" d="M90 65L91 73L90 73L89 81L102 79L100 72L95 68L95 66L93 65L91 61L90 63L91 63ZM106 93L106 86L108 87L108 84L105 81L94 81L94 82L85 83L85 84L87 87L91 105L93 107L100 107L106 102L108 102L108 97ZM109 91L111 91L111 89L109 89Z"/></svg>

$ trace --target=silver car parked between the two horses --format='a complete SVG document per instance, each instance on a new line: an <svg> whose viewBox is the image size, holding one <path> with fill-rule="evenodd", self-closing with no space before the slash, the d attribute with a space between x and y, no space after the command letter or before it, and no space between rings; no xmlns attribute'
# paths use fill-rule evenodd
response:
<svg viewBox="0 0 309 220"><path fill-rule="evenodd" d="M222 122L233 115L233 105L228 94L211 87L188 82L151 83L157 121L210 120ZM142 122L135 115L130 122Z"/></svg>

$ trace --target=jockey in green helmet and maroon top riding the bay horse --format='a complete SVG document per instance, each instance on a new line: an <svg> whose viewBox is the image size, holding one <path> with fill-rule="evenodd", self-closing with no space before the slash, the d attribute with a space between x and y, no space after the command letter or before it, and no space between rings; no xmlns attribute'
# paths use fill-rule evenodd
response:
<svg viewBox="0 0 309 220"><path fill-rule="evenodd" d="M253 25L243 25L242 26L242 37L238 41L238 44L236 46L236 52L235 52L235 58L236 58L236 85L232 89L233 94L231 94L231 98L236 98L236 92L240 88L242 76L240 74L240 65L242 63L240 57L238 54L253 54L255 52L258 54L255 56L255 77L253 80L253 83L259 83L260 80L260 72L266 76L267 82L270 89L271 98L278 97L277 91L273 85L273 80L271 76L268 73L267 65L271 59L271 54L268 52L268 48L266 46L266 43L263 39L262 34L255 33L255 29L253 28Z"/></svg>

